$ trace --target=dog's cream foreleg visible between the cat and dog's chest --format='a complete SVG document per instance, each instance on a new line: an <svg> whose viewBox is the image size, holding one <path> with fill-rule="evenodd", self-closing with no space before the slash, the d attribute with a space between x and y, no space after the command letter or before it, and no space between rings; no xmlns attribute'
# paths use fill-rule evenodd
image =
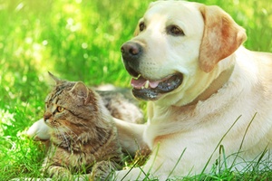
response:
<svg viewBox="0 0 272 181"><path fill-rule="evenodd" d="M120 119L113 119L118 130L118 140L123 151L134 156L136 151L148 148L142 138L143 131L146 128L145 124L135 124Z"/></svg>

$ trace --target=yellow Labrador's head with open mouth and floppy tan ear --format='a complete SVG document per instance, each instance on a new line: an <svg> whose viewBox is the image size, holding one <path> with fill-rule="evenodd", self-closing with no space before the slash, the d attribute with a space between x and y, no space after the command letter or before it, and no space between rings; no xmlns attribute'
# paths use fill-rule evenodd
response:
<svg viewBox="0 0 272 181"><path fill-rule="evenodd" d="M121 46L134 96L171 105L196 99L247 37L218 6L183 1L152 3L134 35Z"/></svg>

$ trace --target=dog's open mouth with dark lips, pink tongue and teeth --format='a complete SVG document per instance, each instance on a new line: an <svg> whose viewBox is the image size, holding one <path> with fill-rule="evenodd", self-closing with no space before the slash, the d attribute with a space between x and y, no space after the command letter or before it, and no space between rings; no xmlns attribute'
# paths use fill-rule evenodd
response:
<svg viewBox="0 0 272 181"><path fill-rule="evenodd" d="M145 79L141 74L131 79L133 95L141 100L158 100L164 93L176 90L183 81L181 73L169 75L158 81Z"/></svg>

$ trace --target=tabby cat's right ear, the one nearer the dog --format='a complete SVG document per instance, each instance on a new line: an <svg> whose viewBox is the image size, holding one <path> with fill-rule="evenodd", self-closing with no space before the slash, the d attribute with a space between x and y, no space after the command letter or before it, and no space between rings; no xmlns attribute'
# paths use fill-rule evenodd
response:
<svg viewBox="0 0 272 181"><path fill-rule="evenodd" d="M75 97L83 98L85 100L84 104L86 104L89 100L89 89L82 81L76 82L72 90L69 92Z"/></svg>

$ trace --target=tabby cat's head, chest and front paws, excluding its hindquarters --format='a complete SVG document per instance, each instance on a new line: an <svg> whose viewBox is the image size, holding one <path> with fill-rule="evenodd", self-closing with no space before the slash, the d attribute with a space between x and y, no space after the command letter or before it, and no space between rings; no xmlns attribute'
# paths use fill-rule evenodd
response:
<svg viewBox="0 0 272 181"><path fill-rule="evenodd" d="M112 116L101 96L83 82L61 81L45 99L45 124L51 146L42 171L46 176L70 180L73 174L89 174L106 180L122 160Z"/></svg>

